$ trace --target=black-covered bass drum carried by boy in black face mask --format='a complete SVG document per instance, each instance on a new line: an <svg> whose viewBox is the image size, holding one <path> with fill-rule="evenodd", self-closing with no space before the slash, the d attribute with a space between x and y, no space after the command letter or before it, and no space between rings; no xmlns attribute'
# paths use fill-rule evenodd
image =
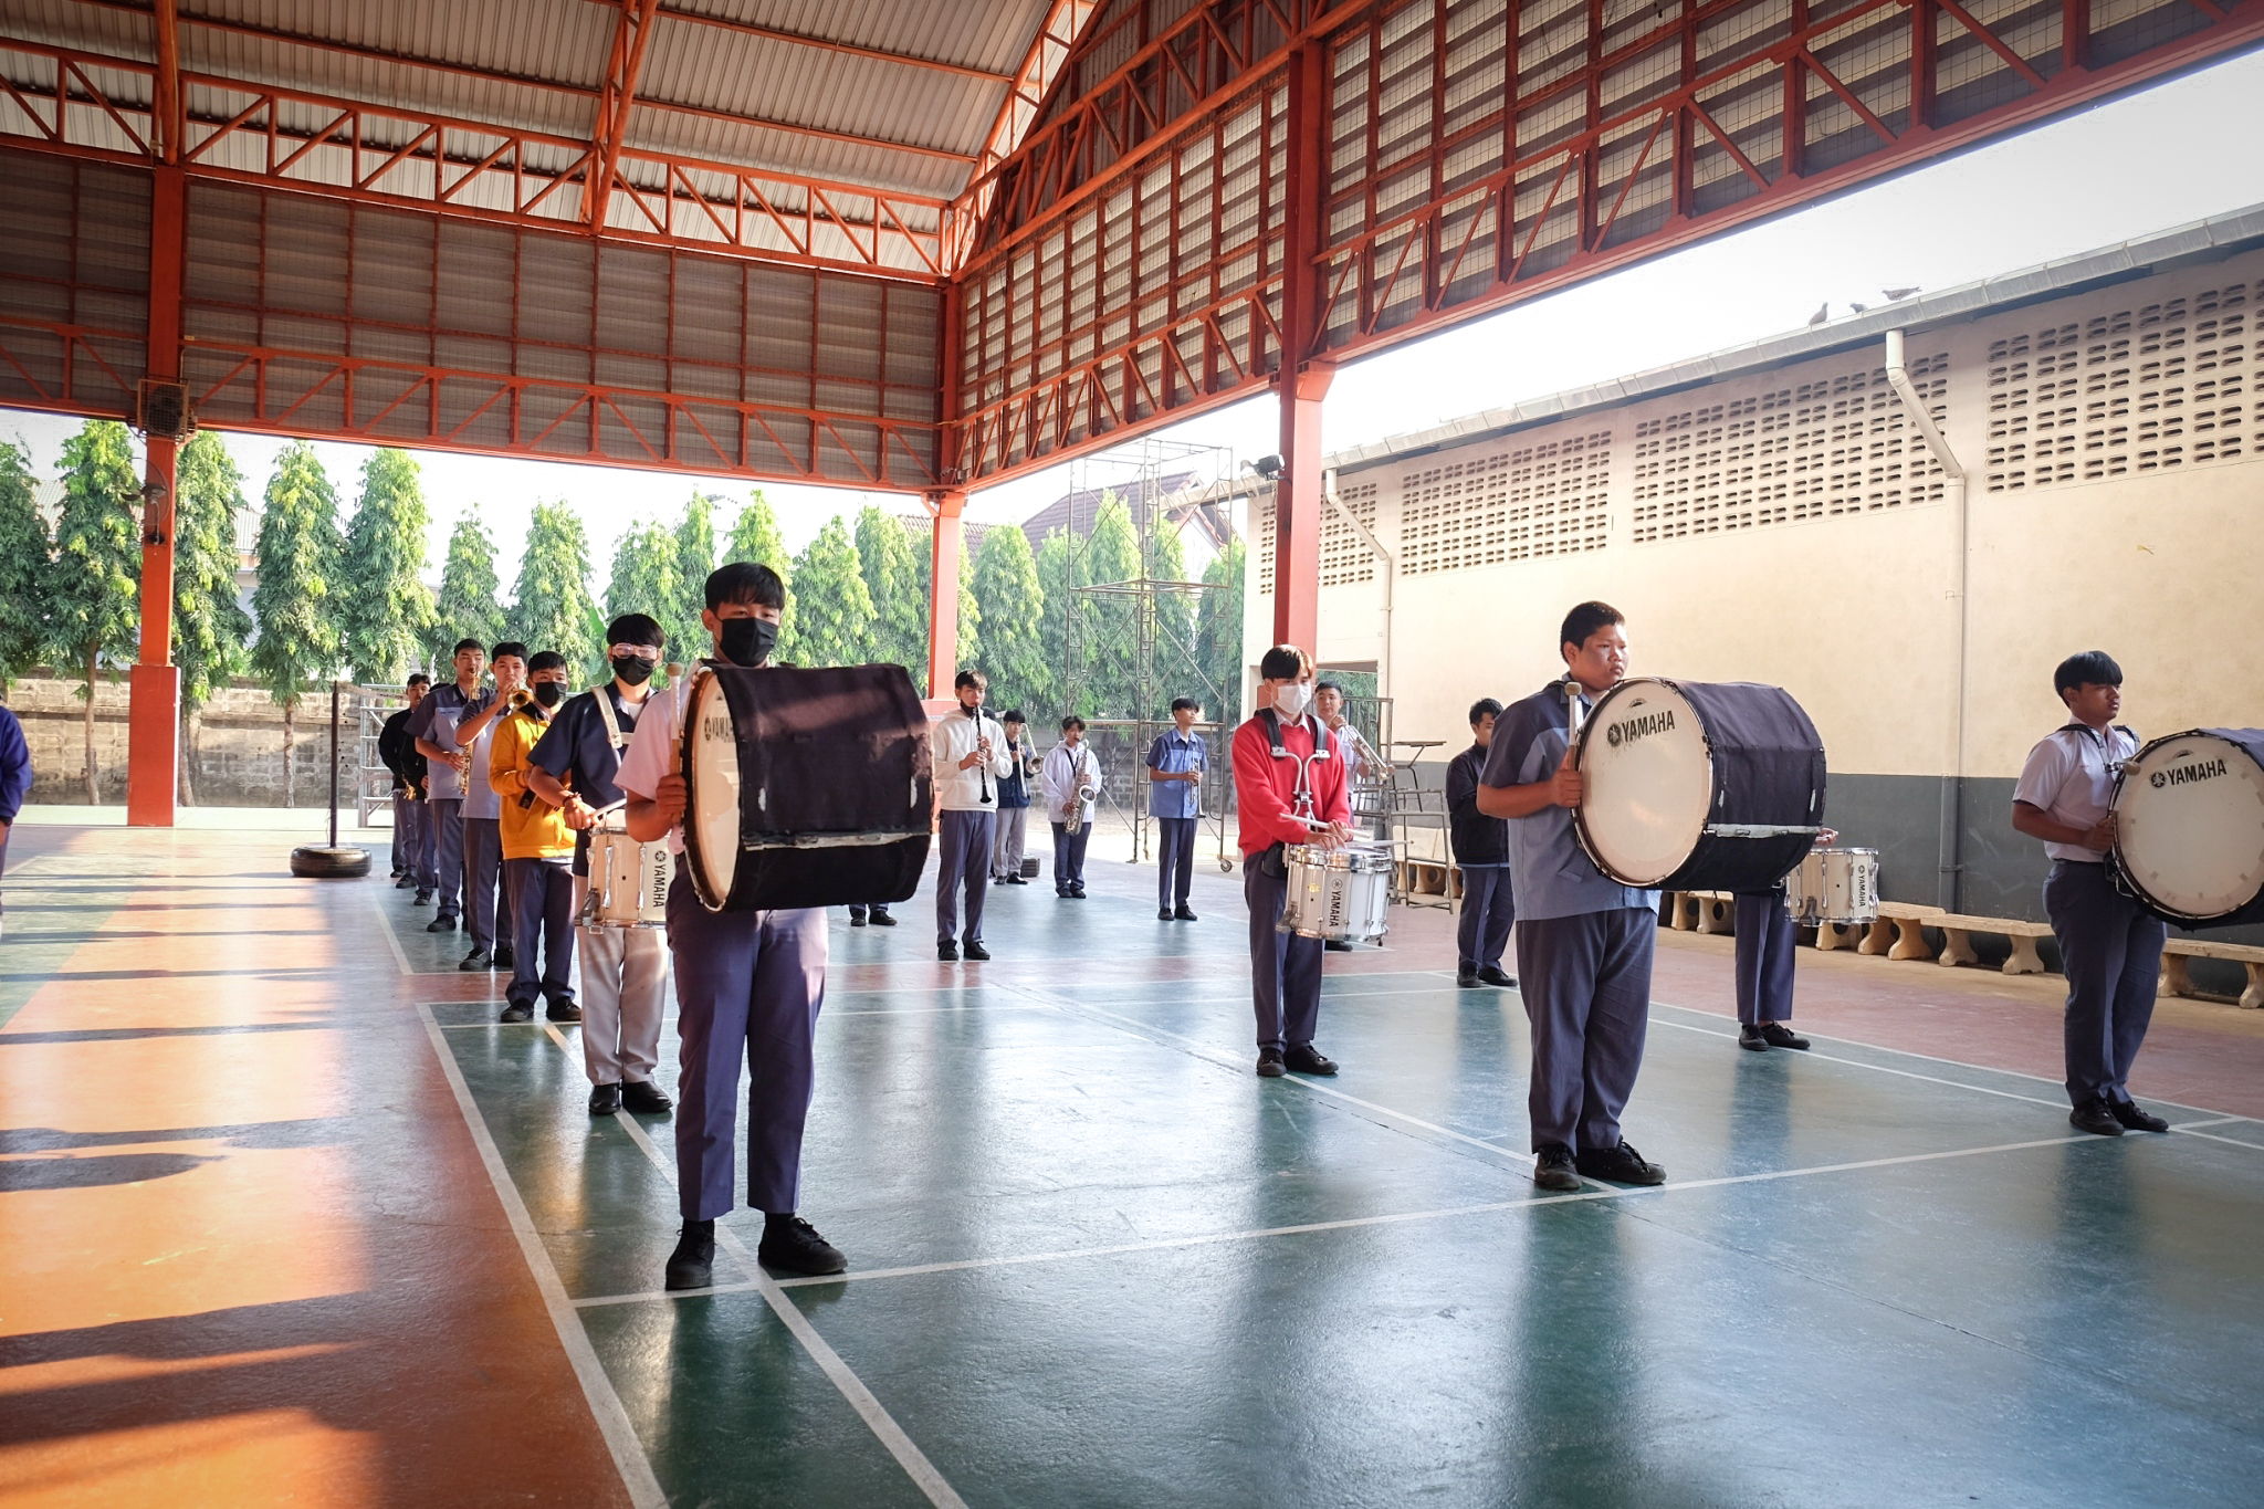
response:
<svg viewBox="0 0 2264 1509"><path fill-rule="evenodd" d="M901 665L702 665L684 690L684 857L709 912L908 900L928 715Z"/></svg>

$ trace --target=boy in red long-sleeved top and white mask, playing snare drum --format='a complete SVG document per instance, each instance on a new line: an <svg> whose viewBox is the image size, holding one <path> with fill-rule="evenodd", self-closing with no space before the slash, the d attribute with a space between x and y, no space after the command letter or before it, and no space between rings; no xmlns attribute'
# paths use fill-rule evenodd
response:
<svg viewBox="0 0 2264 1509"><path fill-rule="evenodd" d="M1241 812L1243 900L1250 903L1250 993L1259 1016L1259 1075L1333 1075L1313 1047L1320 1023L1320 939L1281 932L1286 844L1352 842L1345 762L1311 715L1313 658L1275 645L1259 661L1259 710L1234 731L1234 805Z"/></svg>

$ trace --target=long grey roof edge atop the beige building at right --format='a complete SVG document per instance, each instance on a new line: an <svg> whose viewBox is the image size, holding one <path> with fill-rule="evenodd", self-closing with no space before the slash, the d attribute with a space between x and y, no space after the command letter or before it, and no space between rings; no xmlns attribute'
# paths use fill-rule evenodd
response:
<svg viewBox="0 0 2264 1509"><path fill-rule="evenodd" d="M1673 362L1669 367L1653 367L1650 371L1630 373L1626 378L1612 378L1610 382L1573 387L1560 394L1549 394L1546 398L1528 398L1503 409L1465 414L1463 419L1449 419L1447 423L1429 430L1392 434L1381 441L1370 441L1367 446L1338 450L1324 457L1322 466L1358 471L1363 466L1422 455L1442 446L1458 446L1478 437L1526 430L1530 425L1567 419L1571 414L1610 409L1637 398L1703 387L1739 373L1766 371L1786 362L1807 362L1820 355L1875 346L1886 339L1888 330L1915 333L1965 324L1997 310L2013 310L2024 303L2042 303L2047 299L2065 299L2067 294L2078 294L2090 287L2142 278L2185 260L2219 258L2235 251L2250 251L2255 247L2264 247L2264 204L2253 204L2244 210L2226 210L2223 215L2212 215L2210 219L2196 219L2169 231L2155 231L2153 235L2117 242L2115 247L2101 247L2099 251L2081 251L2053 262L2040 262L2035 267L1999 274L1995 278L1981 278L1979 283L1963 283L1938 294L1918 294L1913 299L1866 310L1850 319L1834 319L1807 330L1793 330L1791 335L1770 335L1766 339L1730 346L1687 362Z"/></svg>

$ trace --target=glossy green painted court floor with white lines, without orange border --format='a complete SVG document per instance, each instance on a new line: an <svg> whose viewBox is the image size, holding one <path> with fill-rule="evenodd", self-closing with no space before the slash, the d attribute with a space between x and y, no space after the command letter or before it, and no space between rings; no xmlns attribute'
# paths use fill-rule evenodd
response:
<svg viewBox="0 0 2264 1509"><path fill-rule="evenodd" d="M432 993L632 1493L2264 1500L2264 1124L2090 1138L2040 1079L1657 1007L1628 1136L1671 1183L1537 1197L1512 993L1331 973L1345 1072L1261 1081L1232 882L1159 928L1150 876L994 894L983 971L924 898L835 912L804 1215L847 1278L724 1249L659 1294L668 1120L591 1122L575 1027ZM380 907L405 971L453 962Z"/></svg>

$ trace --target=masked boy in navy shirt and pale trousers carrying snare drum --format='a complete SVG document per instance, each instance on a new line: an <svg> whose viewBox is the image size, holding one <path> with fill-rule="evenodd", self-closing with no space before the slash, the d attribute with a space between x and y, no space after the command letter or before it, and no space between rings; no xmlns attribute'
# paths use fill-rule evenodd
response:
<svg viewBox="0 0 2264 1509"><path fill-rule="evenodd" d="M614 776L650 701L663 638L661 624L645 613L623 613L607 624L614 679L559 704L530 753L528 787L559 808L575 830L575 916L582 916L582 900L589 896L589 830L598 826L598 812L623 801ZM652 1084L652 1070L661 1061L668 939L654 928L575 928L575 955L582 959L589 1113L668 1111L672 1102Z"/></svg>

